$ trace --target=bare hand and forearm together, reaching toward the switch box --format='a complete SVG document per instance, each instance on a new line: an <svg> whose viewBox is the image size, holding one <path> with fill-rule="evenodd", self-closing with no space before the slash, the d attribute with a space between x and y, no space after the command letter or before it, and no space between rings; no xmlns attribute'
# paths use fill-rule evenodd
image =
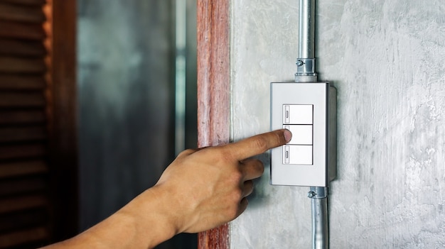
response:
<svg viewBox="0 0 445 249"><path fill-rule="evenodd" d="M237 143L183 151L161 175L122 209L80 235L45 249L154 248L178 233L197 233L240 216L264 172L250 157L284 145L287 130Z"/></svg>

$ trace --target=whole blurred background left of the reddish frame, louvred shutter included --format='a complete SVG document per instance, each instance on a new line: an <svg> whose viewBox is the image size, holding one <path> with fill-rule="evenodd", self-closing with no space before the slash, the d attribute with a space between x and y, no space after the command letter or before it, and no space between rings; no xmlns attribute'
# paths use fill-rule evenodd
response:
<svg viewBox="0 0 445 249"><path fill-rule="evenodd" d="M196 0L0 0L0 248L69 238L153 186L196 147L196 109Z"/></svg>

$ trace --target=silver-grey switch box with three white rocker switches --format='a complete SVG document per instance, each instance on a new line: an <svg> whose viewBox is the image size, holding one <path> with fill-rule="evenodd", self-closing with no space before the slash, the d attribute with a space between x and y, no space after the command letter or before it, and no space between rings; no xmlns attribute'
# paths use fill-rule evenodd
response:
<svg viewBox="0 0 445 249"><path fill-rule="evenodd" d="M271 83L271 129L292 139L271 150L271 184L328 187L336 177L336 89L329 82Z"/></svg>

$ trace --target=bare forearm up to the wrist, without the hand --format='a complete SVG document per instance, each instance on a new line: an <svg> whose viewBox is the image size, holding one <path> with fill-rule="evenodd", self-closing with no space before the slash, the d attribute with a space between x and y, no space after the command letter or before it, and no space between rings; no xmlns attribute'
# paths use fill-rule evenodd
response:
<svg viewBox="0 0 445 249"><path fill-rule="evenodd" d="M160 192L148 189L96 226L45 249L154 248L178 233L165 211L168 194Z"/></svg>

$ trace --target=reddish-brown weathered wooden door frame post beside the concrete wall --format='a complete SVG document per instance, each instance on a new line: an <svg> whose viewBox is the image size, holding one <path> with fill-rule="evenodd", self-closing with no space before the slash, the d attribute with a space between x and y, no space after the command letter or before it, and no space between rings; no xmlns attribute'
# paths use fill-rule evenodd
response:
<svg viewBox="0 0 445 249"><path fill-rule="evenodd" d="M197 6L198 146L230 139L230 1ZM229 226L199 233L198 248L228 249Z"/></svg>

